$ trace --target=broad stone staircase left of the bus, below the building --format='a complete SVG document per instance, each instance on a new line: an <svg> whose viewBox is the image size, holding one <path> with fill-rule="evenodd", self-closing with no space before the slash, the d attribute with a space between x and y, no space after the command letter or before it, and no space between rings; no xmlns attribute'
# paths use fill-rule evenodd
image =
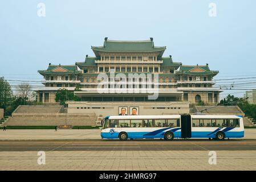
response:
<svg viewBox="0 0 256 182"><path fill-rule="evenodd" d="M69 114L60 105L18 106L2 126L95 126L97 117L91 114Z"/></svg>

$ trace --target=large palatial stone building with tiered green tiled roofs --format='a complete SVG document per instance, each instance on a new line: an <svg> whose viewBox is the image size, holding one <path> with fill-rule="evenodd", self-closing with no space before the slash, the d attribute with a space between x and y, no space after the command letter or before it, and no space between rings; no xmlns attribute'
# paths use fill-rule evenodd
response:
<svg viewBox="0 0 256 182"><path fill-rule="evenodd" d="M217 104L220 90L213 88L213 77L218 71L210 70L208 64L183 65L174 62L172 56L163 56L165 49L166 47L155 46L153 38L143 41L105 38L103 46L92 46L95 56L86 55L85 61L76 62L75 65L49 64L46 70L38 71L44 77L44 88L38 90L38 102L53 103L58 89L75 90L76 86L79 86L80 90L75 91L75 94L81 97L82 101L67 102L68 111L71 113L84 113L84 108L90 108L90 112L93 107L102 110L104 105L113 107L112 109L116 110L114 114L118 114L116 112L119 106L128 108L137 105L150 109L166 108L166 111L161 111L162 114L170 113L171 109L171 113L185 113L188 111L188 104ZM108 80L97 79L100 73L105 73ZM127 78L111 82L111 74L119 77L120 73ZM137 80L129 80L128 76L132 73L139 75ZM148 76L149 73L152 75L152 84L140 77ZM121 84L121 88L126 85L133 90L157 90L158 97L155 100L149 99L147 92L100 93L97 89L99 84L107 84L109 90L115 88L116 84ZM186 109L182 110L183 107ZM143 113L145 110L140 111Z"/></svg>

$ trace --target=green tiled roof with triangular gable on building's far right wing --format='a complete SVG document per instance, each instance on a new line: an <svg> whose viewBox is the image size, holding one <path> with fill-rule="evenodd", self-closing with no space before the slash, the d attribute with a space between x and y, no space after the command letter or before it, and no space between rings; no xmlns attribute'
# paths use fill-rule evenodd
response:
<svg viewBox="0 0 256 182"><path fill-rule="evenodd" d="M199 71L196 71L196 70ZM181 65L180 70L176 73L185 75L217 75L218 71L210 70L208 64L206 65Z"/></svg>

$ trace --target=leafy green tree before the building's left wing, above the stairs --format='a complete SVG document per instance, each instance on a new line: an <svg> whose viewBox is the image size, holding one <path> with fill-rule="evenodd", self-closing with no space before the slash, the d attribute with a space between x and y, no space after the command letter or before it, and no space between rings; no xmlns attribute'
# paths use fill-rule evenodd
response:
<svg viewBox="0 0 256 182"><path fill-rule="evenodd" d="M74 92L67 89L59 89L56 92L55 101L60 102L60 105L64 105L66 101L80 101L80 97L75 96Z"/></svg>

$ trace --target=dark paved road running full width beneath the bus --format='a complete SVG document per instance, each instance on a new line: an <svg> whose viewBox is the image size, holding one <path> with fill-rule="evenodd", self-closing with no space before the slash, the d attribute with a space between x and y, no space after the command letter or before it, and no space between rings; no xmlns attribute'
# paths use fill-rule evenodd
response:
<svg viewBox="0 0 256 182"><path fill-rule="evenodd" d="M0 151L256 151L255 139L224 141L154 140L0 140Z"/></svg>

